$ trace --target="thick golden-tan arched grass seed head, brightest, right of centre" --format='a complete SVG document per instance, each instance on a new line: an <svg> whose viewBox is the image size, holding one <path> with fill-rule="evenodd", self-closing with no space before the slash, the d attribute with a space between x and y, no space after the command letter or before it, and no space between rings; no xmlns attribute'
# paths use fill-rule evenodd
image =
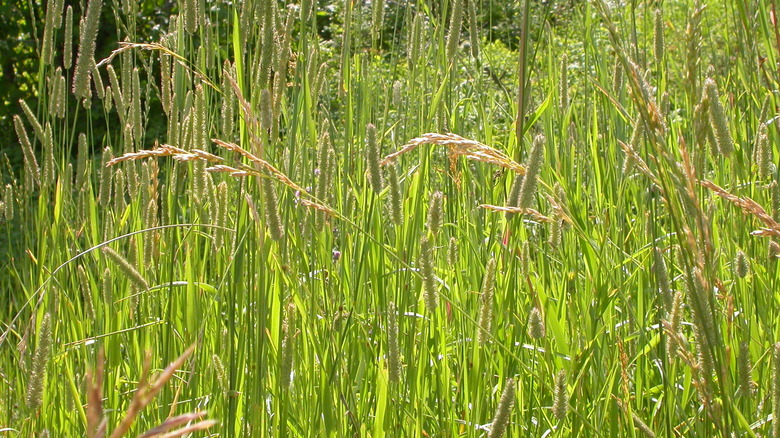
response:
<svg viewBox="0 0 780 438"><path fill-rule="evenodd" d="M386 156L379 164L386 166L399 156L411 152L425 144L447 146L451 155L464 156L471 160L495 164L512 170L518 175L525 174L525 166L515 162L498 149L491 148L476 140L469 140L453 133L427 133L420 137L413 138L409 140L408 143L401 146L401 149Z"/></svg>

